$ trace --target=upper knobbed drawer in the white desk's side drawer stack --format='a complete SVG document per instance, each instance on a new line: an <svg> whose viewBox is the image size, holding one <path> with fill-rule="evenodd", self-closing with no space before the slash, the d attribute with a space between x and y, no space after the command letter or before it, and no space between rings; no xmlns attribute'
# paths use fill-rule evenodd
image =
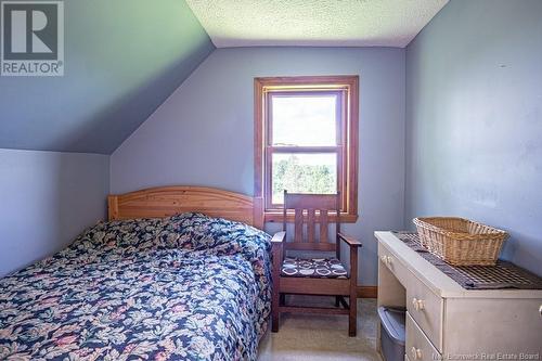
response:
<svg viewBox="0 0 542 361"><path fill-rule="evenodd" d="M414 275L406 282L406 310L433 345L442 351L443 300Z"/></svg>

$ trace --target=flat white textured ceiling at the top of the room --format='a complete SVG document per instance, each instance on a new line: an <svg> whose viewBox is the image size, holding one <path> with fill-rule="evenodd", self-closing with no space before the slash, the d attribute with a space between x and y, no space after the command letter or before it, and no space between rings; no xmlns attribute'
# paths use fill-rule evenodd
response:
<svg viewBox="0 0 542 361"><path fill-rule="evenodd" d="M405 47L448 0L186 0L217 48Z"/></svg>

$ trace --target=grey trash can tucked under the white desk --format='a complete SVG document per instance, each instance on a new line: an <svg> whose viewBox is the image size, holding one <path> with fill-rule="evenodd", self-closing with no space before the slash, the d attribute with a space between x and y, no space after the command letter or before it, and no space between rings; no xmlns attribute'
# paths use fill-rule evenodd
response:
<svg viewBox="0 0 542 361"><path fill-rule="evenodd" d="M392 307L378 307L380 319L380 349L386 361L404 360L404 318L405 310Z"/></svg>

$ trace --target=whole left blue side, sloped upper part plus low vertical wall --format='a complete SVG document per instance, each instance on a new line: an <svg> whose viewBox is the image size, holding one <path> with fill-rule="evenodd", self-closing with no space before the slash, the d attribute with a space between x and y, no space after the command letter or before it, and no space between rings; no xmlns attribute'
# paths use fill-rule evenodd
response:
<svg viewBox="0 0 542 361"><path fill-rule="evenodd" d="M105 217L108 156L215 49L183 0L65 0L65 76L0 77L0 276Z"/></svg>

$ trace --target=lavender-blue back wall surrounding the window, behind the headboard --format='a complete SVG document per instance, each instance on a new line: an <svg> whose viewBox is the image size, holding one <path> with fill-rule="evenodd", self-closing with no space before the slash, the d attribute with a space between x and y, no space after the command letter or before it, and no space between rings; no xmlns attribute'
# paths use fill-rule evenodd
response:
<svg viewBox="0 0 542 361"><path fill-rule="evenodd" d="M111 190L197 184L253 194L253 81L360 75L360 276L376 284L375 230L402 229L404 50L218 49L111 157ZM272 230L272 227L269 227Z"/></svg>

